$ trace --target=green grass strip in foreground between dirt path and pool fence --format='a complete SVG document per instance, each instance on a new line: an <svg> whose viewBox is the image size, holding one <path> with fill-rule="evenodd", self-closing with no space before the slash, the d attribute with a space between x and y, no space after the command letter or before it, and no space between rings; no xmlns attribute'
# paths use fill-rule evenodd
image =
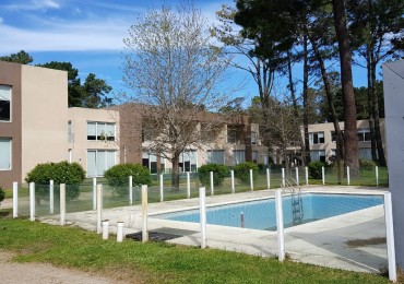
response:
<svg viewBox="0 0 404 284"><path fill-rule="evenodd" d="M78 227L0 218L0 248L14 261L49 262L133 283L389 283L380 275L164 242L141 244Z"/></svg>

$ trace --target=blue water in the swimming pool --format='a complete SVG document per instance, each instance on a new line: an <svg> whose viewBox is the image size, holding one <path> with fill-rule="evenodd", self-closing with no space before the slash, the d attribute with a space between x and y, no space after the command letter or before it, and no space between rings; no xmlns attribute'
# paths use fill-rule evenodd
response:
<svg viewBox="0 0 404 284"><path fill-rule="evenodd" d="M328 218L382 203L383 198L381 196L304 193L301 194L304 216L301 223ZM246 228L276 229L275 200L273 198L207 208L206 221L207 224L240 227L241 212ZM290 197L283 198L283 213L285 227L293 226L294 217ZM200 222L199 210L161 214L154 217L181 222Z"/></svg>

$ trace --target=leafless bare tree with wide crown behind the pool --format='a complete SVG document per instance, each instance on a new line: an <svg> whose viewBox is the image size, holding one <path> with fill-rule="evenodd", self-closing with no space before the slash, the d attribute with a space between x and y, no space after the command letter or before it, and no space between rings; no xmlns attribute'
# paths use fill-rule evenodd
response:
<svg viewBox="0 0 404 284"><path fill-rule="evenodd" d="M123 39L122 94L141 113L144 150L173 164L179 185L179 157L202 147L224 126L217 114L227 95L221 88L228 60L211 45L206 20L193 5L163 7L138 19ZM139 110L140 109L140 110Z"/></svg>

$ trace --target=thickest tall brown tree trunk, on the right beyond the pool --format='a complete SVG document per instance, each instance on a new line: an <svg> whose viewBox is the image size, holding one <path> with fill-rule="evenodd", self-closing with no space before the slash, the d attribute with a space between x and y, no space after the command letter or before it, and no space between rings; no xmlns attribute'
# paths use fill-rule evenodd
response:
<svg viewBox="0 0 404 284"><path fill-rule="evenodd" d="M346 27L345 1L332 0L334 12L334 26L338 42L341 84L344 104L344 146L345 165L349 166L353 177L359 175L359 151L356 126L355 94L352 79L352 57Z"/></svg>

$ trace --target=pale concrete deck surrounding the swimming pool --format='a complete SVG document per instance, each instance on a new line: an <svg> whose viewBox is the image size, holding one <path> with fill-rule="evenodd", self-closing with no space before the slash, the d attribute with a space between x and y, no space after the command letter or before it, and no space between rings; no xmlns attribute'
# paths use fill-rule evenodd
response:
<svg viewBox="0 0 404 284"><path fill-rule="evenodd" d="M366 187L301 187L301 192L382 194L387 189ZM248 191L206 197L206 204L211 206L274 196L274 189ZM150 203L147 205L148 229L178 235L178 238L168 240L173 244L200 246L200 225L198 223L153 217L155 214L195 209L198 206L198 198ZM141 205L106 209L103 211L103 220L109 220L112 233L116 232L116 223L118 221L124 222L123 234L140 232L142 226L141 215ZM52 216L52 218L45 217L41 220L57 223L55 221L57 217ZM91 230L96 230L96 211L67 214L68 224ZM300 262L378 273L380 269L385 269L388 265L384 238L384 211L383 205L378 205L286 228L285 250L293 260ZM348 240L357 240L357 242L353 246L347 242ZM262 257L275 257L277 255L275 232L207 225L206 245L210 248Z"/></svg>

